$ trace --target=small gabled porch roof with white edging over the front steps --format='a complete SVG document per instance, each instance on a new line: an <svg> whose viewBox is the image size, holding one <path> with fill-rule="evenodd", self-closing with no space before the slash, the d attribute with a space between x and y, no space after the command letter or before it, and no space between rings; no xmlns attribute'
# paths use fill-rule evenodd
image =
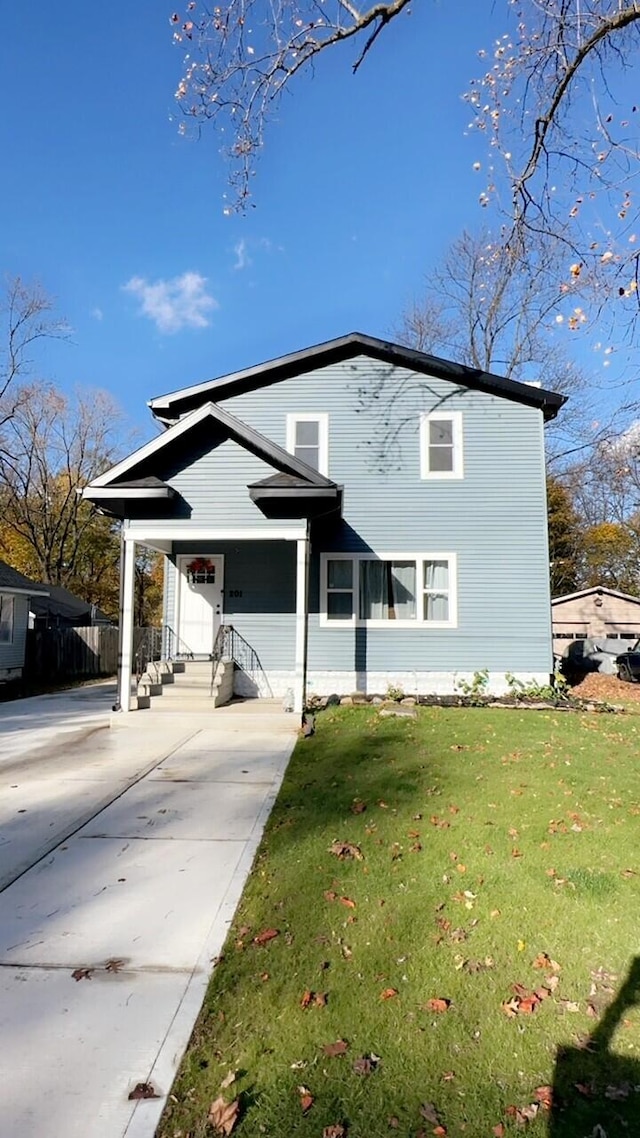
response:
<svg viewBox="0 0 640 1138"><path fill-rule="evenodd" d="M313 470L312 467L307 467L306 462L302 462L296 459L288 451L282 450L271 439L266 438L265 435L261 435L260 431L254 430L253 427L248 427L247 423L241 422L236 415L230 414L229 411L224 411L223 407L219 407L215 403L204 403L202 406L197 407L190 414L180 419L179 422L170 427L163 435L158 435L156 438L151 439L145 446L141 446L133 454L130 454L128 459L123 459L110 470L107 470L99 478L95 478L92 483L89 484L83 490L83 496L91 500L93 497L95 490L100 490L104 487L109 488L125 488L129 494L136 496L136 487L141 486L142 493L149 493L151 489L159 488L164 485L156 483L155 487L147 486L148 479L139 479L133 481L122 481L125 475L136 467L139 467L141 462L145 462L151 455L157 454L165 447L170 446L175 439L188 435L189 431L195 430L200 423L211 420L212 423L221 427L228 438L232 438L240 443L245 450L249 451L256 457L262 459L264 462L269 463L271 467L276 467L277 470L282 473L293 475L296 478L301 478L305 484L311 486L333 486L330 478L325 478L320 475L318 470ZM114 486L115 484L115 486ZM145 484L142 486L142 484ZM100 495L97 495L100 496Z"/></svg>

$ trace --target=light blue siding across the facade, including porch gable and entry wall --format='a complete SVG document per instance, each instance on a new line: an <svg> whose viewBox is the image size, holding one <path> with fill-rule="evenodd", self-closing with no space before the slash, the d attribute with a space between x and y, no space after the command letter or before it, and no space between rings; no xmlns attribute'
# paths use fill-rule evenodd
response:
<svg viewBox="0 0 640 1138"><path fill-rule="evenodd" d="M362 391L369 393L364 404ZM376 398L375 395L378 395ZM309 666L318 671L504 671L551 669L549 560L542 413L495 395L425 379L366 356L221 401L239 419L286 446L287 413L329 417L329 477L344 486L342 525L313 529ZM421 412L462 413L460 480L420 478ZM383 452L380 454L380 452ZM187 513L174 523L174 553L223 553L225 619L269 669L294 667L295 543L189 544L190 526L270 530L247 484L273 471L227 442L165 472ZM131 522L136 529L143 523ZM321 627L322 552L454 553L458 627L353 629ZM229 591L241 591L230 603ZM174 570L166 584L175 619ZM238 599L240 600L240 599Z"/></svg>

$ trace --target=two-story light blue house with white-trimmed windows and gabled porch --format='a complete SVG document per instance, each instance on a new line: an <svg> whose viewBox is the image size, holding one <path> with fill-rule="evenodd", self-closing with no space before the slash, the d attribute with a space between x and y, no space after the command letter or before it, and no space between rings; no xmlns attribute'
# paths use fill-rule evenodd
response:
<svg viewBox="0 0 640 1138"><path fill-rule="evenodd" d="M359 333L151 399L164 431L84 492L123 518L122 707L137 544L166 556L167 654L232 626L238 694L545 682L563 403Z"/></svg>

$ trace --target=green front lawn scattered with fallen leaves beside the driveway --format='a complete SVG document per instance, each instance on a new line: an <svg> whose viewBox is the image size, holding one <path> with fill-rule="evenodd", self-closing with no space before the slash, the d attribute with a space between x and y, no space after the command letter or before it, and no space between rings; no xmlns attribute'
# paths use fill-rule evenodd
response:
<svg viewBox="0 0 640 1138"><path fill-rule="evenodd" d="M211 1138L221 1094L238 1138L639 1135L639 728L319 715L158 1138Z"/></svg>

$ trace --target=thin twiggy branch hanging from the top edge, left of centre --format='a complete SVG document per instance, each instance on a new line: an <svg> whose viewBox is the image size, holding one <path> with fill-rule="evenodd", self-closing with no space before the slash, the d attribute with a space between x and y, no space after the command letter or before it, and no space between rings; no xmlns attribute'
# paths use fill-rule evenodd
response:
<svg viewBox="0 0 640 1138"><path fill-rule="evenodd" d="M378 35L409 0L361 10L352 0L191 0L171 17L184 47L184 71L175 92L197 129L211 124L230 162L230 208L243 208L262 148L264 126L292 80L327 49L354 40L356 72ZM184 124L182 124L184 125Z"/></svg>

